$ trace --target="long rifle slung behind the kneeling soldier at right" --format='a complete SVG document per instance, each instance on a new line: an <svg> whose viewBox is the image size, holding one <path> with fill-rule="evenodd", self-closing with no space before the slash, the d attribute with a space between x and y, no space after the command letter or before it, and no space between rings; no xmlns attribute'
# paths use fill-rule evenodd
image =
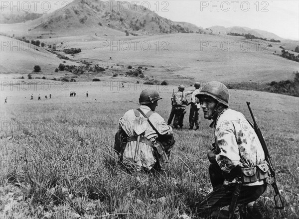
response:
<svg viewBox="0 0 299 219"><path fill-rule="evenodd" d="M246 104L247 104L247 106L248 106L248 109L249 109L249 111L250 111L250 114L251 114L251 117L252 117L252 120L253 120L253 128L254 128L254 131L256 132L256 134L258 135L258 138L259 138L259 140L260 140L260 142L261 142L261 145L262 145L262 147L263 147L263 150L264 150L264 153L265 153L265 159L266 159L266 161L268 162L268 166L269 166L269 170L270 170L270 177L272 177L273 179L274 179L274 181L271 183L271 186L273 187L273 189L274 189L274 192L275 192L275 196L274 196L274 202L275 202L275 208L276 209L284 209L285 208L285 205L284 205L284 202L283 202L283 200L282 200L282 197L281 197L281 195L280 195L280 192L279 192L279 190L278 190L278 187L277 187L277 184L276 184L276 178L275 178L275 169L274 169L274 167L273 167L273 165L272 165L272 161L271 161L271 156L270 156L270 154L269 154L269 151L268 151L268 148L267 148L267 145L266 145L266 142L265 142L265 140L264 140L264 137L263 137L263 135L262 135L262 132L261 132L261 130L260 130L260 128L259 128L259 126L258 126L258 124L257 124L257 122L256 122L256 120L255 120L255 118L254 118L254 115L253 115L253 113L252 113L252 110L251 110L251 108L250 108L250 102L246 102ZM251 124L251 123L250 123ZM281 202L281 206L278 206L277 205L277 196L279 197L279 201Z"/></svg>

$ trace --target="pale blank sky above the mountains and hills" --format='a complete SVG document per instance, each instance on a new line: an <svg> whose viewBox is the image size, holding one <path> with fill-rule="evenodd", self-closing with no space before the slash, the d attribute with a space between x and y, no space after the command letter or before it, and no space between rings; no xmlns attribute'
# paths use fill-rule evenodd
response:
<svg viewBox="0 0 299 219"><path fill-rule="evenodd" d="M27 10L29 2L31 12L49 13L57 8L61 9L71 1L1 0L0 2L1 12L7 9L16 11L18 7ZM122 2L120 8L125 8L128 1ZM172 21L189 22L203 28L249 27L266 30L286 39L299 40L299 0L130 0L130 2L143 5ZM19 6L12 7L12 4ZM103 6L107 4L103 3ZM110 4L108 6L113 7Z"/></svg>

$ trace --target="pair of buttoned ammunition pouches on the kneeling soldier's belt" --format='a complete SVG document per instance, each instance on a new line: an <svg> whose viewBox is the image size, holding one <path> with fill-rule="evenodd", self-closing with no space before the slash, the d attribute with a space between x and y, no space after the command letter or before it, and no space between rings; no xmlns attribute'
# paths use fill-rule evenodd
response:
<svg viewBox="0 0 299 219"><path fill-rule="evenodd" d="M269 167L268 164L259 164L255 167L242 168L242 183L255 183L268 178Z"/></svg>

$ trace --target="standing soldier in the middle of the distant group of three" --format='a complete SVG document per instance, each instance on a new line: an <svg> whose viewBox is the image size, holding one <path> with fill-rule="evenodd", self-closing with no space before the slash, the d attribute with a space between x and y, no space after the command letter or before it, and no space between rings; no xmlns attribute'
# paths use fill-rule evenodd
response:
<svg viewBox="0 0 299 219"><path fill-rule="evenodd" d="M187 91L184 93L184 90L185 87L183 85L179 85L178 91L172 95L174 104L174 128L177 128L177 125L179 125L180 128L183 127L184 115L186 113L186 106L188 104L186 97L189 94L192 94L192 91Z"/></svg>

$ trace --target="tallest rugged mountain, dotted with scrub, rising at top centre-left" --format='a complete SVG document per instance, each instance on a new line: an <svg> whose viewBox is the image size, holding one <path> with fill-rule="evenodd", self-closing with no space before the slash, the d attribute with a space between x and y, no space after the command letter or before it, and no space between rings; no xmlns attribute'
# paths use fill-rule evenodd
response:
<svg viewBox="0 0 299 219"><path fill-rule="evenodd" d="M56 10L36 19L32 29L58 31L103 26L131 34L145 35L202 31L194 24L163 18L141 5L131 4L131 9L110 7L110 5L117 5L117 2L105 0L105 5L108 3L109 6L103 7L100 0L75 0L59 11Z"/></svg>

